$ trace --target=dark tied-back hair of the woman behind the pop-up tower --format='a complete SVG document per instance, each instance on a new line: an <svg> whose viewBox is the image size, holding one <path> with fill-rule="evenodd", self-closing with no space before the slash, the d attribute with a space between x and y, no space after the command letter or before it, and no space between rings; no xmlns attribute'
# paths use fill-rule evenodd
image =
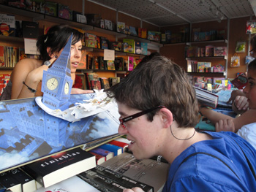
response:
<svg viewBox="0 0 256 192"><path fill-rule="evenodd" d="M59 52L67 43L70 35L73 34L72 45L83 40L83 34L74 28L61 24L51 27L47 34L37 38L37 50L40 53L42 61L48 61L50 54ZM50 53L47 52L47 47L50 47Z"/></svg>

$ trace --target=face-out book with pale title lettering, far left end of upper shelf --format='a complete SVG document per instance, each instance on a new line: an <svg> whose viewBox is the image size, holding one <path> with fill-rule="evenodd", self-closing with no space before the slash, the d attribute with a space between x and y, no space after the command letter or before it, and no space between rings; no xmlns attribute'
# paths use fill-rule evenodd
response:
<svg viewBox="0 0 256 192"><path fill-rule="evenodd" d="M0 14L0 35L15 36L15 16Z"/></svg>

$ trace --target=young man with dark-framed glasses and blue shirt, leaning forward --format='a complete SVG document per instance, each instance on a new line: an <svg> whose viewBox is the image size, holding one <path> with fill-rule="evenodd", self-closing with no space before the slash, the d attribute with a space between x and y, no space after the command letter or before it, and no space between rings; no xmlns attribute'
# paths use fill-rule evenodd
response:
<svg viewBox="0 0 256 192"><path fill-rule="evenodd" d="M133 155L162 155L170 163L163 191L256 191L255 149L231 132L195 131L195 90L180 66L151 58L108 95L118 103L118 133L127 135Z"/></svg>

